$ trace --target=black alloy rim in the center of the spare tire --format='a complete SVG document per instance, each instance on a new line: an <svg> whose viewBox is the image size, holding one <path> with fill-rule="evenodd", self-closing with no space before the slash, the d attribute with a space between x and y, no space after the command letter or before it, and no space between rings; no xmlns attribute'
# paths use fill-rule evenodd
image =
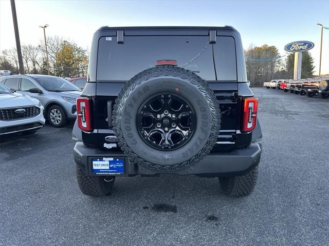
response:
<svg viewBox="0 0 329 246"><path fill-rule="evenodd" d="M159 93L141 105L136 124L141 138L148 145L157 150L174 150L192 137L196 116L184 97Z"/></svg>

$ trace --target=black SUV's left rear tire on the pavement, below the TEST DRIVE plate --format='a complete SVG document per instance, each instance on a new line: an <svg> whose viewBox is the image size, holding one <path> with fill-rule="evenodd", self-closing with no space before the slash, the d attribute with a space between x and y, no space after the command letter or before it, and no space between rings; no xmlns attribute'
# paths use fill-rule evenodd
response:
<svg viewBox="0 0 329 246"><path fill-rule="evenodd" d="M78 185L83 194L99 197L111 193L115 176L87 176L79 165L76 165L76 170Z"/></svg>

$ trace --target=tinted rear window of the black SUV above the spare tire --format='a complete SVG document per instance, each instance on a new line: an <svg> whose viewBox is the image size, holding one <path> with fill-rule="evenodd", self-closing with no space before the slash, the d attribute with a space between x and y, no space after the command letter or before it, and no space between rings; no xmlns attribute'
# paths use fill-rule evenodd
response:
<svg viewBox="0 0 329 246"><path fill-rule="evenodd" d="M234 39L217 36L202 54L185 68L206 80L236 80ZM125 36L101 37L98 47L97 81L129 80L137 73L154 67L157 60L176 60L182 67L197 56L209 42L209 36Z"/></svg>

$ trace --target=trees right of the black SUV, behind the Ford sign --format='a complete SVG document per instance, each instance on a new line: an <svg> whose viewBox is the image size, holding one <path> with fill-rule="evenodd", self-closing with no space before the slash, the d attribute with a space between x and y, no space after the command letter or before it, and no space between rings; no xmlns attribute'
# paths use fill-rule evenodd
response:
<svg viewBox="0 0 329 246"><path fill-rule="evenodd" d="M286 53L281 57L277 47L263 45L250 46L245 50L247 77L251 86L263 86L263 83L272 79L294 78L294 53ZM275 59L271 59L274 58ZM313 77L314 60L308 51L303 52L301 78Z"/></svg>

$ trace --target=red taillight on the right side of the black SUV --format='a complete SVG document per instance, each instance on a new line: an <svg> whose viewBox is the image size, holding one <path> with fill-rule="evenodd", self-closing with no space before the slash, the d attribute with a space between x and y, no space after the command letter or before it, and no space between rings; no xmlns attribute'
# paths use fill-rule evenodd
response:
<svg viewBox="0 0 329 246"><path fill-rule="evenodd" d="M258 107L257 98L244 99L242 131L250 132L256 127L257 107Z"/></svg>

